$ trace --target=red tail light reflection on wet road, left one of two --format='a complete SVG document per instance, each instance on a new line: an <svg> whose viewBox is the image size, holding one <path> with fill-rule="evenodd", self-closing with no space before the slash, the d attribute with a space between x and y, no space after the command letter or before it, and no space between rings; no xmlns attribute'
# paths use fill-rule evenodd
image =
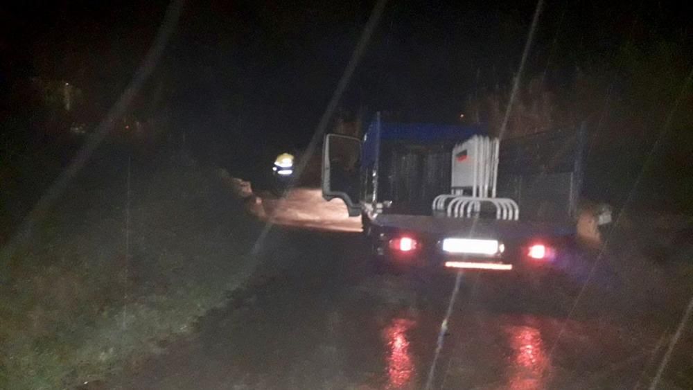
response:
<svg viewBox="0 0 693 390"><path fill-rule="evenodd" d="M398 389L414 377L414 362L410 353L407 331L414 326L410 319L393 319L385 329L387 342L387 389Z"/></svg>

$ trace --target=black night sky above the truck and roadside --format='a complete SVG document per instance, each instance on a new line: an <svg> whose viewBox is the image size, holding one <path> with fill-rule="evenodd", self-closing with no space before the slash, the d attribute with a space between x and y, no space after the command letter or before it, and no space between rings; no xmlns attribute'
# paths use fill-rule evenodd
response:
<svg viewBox="0 0 693 390"><path fill-rule="evenodd" d="M536 3L432 3L387 4L342 109L454 123L468 96L509 83ZM608 61L629 39L664 37L691 47L682 5L663 4L546 3L528 74L547 70L550 82L568 82L577 67ZM35 76L69 80L96 112L105 112L150 47L166 6L60 1L4 8L3 89ZM132 109L167 110L193 139L233 140L242 150L256 150L258 140L300 147L372 7L370 1L188 1Z"/></svg>

